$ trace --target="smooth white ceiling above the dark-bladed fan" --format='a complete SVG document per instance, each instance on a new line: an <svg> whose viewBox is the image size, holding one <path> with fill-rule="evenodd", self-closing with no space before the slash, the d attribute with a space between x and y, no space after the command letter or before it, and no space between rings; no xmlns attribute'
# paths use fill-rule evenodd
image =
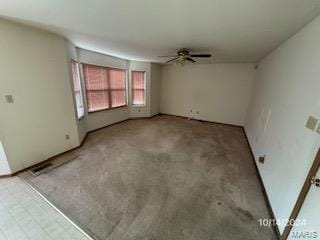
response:
<svg viewBox="0 0 320 240"><path fill-rule="evenodd" d="M319 0L0 0L0 15L78 47L159 62L179 48L256 62L320 13Z"/></svg>

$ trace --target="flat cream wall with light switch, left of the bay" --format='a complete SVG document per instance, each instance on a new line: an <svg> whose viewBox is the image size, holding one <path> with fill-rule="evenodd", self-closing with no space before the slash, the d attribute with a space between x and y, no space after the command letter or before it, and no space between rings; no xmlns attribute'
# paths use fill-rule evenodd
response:
<svg viewBox="0 0 320 240"><path fill-rule="evenodd" d="M79 136L64 39L5 20L0 35L0 139L16 172L76 147Z"/></svg>

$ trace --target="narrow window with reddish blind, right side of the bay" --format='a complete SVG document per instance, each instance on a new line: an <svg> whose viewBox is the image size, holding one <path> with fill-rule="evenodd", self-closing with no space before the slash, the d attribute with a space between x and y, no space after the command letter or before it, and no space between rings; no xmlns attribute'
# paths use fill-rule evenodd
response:
<svg viewBox="0 0 320 240"><path fill-rule="evenodd" d="M144 71L132 71L132 105L145 105L145 72Z"/></svg>

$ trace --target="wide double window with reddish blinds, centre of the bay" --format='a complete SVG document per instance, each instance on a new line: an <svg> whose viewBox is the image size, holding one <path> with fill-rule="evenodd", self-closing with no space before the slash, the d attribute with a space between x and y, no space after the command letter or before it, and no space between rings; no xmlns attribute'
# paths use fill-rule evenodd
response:
<svg viewBox="0 0 320 240"><path fill-rule="evenodd" d="M83 64L88 112L126 105L126 71Z"/></svg>

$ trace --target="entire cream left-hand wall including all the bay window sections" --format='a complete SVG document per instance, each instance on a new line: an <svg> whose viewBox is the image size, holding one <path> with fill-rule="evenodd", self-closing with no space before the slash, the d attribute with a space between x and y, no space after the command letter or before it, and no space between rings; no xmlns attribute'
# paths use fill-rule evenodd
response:
<svg viewBox="0 0 320 240"><path fill-rule="evenodd" d="M0 175L10 174L79 146L88 131L151 116L159 108L159 69L155 69L151 105L151 63L129 61L77 49L62 37L37 28L0 20ZM128 106L88 113L78 120L71 59L128 70ZM131 106L130 70L147 76L146 106ZM84 86L83 76L81 76ZM84 90L84 89L83 89ZM13 95L7 103L5 95ZM139 111L140 110L140 111ZM70 139L66 139L66 134Z"/></svg>

